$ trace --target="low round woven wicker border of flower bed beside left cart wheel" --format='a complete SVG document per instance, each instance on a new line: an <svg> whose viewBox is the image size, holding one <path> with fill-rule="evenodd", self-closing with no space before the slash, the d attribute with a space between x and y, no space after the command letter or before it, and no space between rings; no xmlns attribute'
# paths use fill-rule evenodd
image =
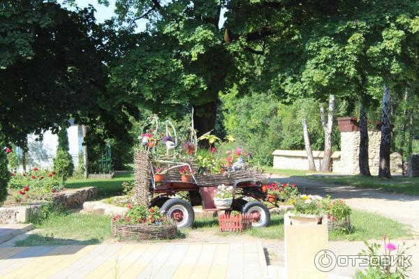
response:
<svg viewBox="0 0 419 279"><path fill-rule="evenodd" d="M112 221L112 237L130 240L173 239L177 235L175 223L166 225L123 225Z"/></svg>

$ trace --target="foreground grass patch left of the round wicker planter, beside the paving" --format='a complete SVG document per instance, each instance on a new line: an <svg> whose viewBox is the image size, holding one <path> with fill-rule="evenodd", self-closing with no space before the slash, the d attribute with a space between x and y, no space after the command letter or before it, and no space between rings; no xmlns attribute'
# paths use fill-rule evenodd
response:
<svg viewBox="0 0 419 279"><path fill-rule="evenodd" d="M54 214L41 224L39 232L17 241L15 246L90 245L110 238L110 217L89 214Z"/></svg>

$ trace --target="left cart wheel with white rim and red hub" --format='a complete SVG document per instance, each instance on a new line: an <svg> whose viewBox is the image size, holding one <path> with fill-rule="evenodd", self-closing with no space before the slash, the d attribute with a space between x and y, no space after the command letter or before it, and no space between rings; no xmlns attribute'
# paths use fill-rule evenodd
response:
<svg viewBox="0 0 419 279"><path fill-rule="evenodd" d="M161 210L166 212L168 218L175 220L177 227L191 227L195 219L191 204L184 199L168 199Z"/></svg>

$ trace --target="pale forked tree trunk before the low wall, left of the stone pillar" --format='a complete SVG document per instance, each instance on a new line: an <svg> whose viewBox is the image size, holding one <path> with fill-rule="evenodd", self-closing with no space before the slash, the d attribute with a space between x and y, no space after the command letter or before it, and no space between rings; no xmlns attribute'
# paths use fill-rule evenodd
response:
<svg viewBox="0 0 419 279"><path fill-rule="evenodd" d="M321 123L325 132L325 151L323 160L321 163L320 170L322 172L330 172L330 160L332 158L332 132L333 132L333 120L335 114L335 96L330 94L329 96L329 111L328 111L328 122L325 119L325 108L322 105L320 107Z"/></svg>

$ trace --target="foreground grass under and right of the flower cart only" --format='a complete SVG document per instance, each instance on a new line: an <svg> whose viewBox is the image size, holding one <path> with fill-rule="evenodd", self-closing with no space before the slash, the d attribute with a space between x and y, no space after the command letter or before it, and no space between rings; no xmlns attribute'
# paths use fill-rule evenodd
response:
<svg viewBox="0 0 419 279"><path fill-rule="evenodd" d="M410 229L394 220L382 217L376 213L353 210L351 216L353 230L349 234L331 232L331 241L365 241L369 239L381 239L383 234L390 234L393 239L410 238ZM226 235L218 232L218 221L216 218L197 218L194 223L195 229L209 230L214 234ZM188 234L188 229L184 230ZM251 228L243 232L260 239L284 239L284 216L272 215L270 225L263 228Z"/></svg>

